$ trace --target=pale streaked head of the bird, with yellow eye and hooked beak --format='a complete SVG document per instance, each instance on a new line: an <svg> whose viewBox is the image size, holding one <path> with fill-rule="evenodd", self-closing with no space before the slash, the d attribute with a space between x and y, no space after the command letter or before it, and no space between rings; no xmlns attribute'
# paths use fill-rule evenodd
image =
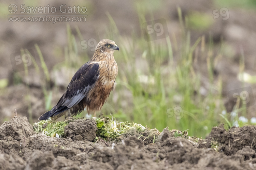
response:
<svg viewBox="0 0 256 170"><path fill-rule="evenodd" d="M95 52L100 52L100 53L112 53L118 50L119 51L119 47L115 44L114 41L112 40L101 40L96 48L95 48Z"/></svg>

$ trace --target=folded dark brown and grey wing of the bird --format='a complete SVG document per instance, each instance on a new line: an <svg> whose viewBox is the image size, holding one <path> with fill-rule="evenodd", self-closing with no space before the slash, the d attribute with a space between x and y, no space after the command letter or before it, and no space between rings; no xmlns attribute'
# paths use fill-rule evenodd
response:
<svg viewBox="0 0 256 170"><path fill-rule="evenodd" d="M71 79L66 92L52 110L42 114L38 120L47 120L77 105L91 90L99 79L99 64L85 63Z"/></svg>

